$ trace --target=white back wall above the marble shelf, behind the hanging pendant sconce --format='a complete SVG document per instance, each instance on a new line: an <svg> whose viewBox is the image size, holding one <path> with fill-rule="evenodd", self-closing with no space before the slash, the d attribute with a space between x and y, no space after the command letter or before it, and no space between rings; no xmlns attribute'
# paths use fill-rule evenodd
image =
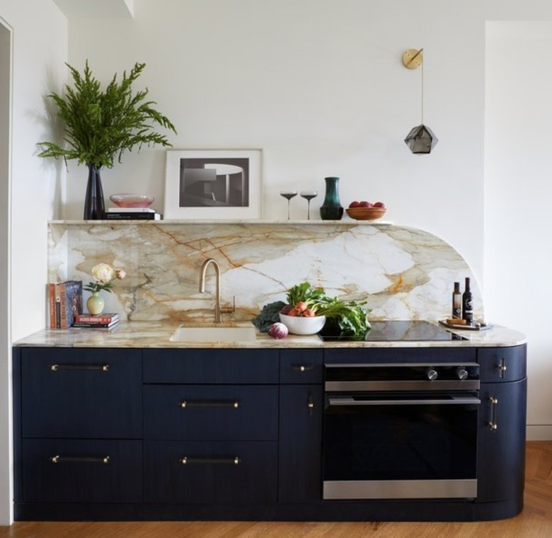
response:
<svg viewBox="0 0 552 538"><path fill-rule="evenodd" d="M481 277L483 23L444 4L135 0L134 20L101 21L101 39L91 19L71 20L69 62L88 58L105 81L146 62L138 87L176 124L177 148L262 147L265 217L285 217L281 188L323 191L340 176L344 204L384 200L386 217L438 234ZM401 63L410 47L425 47L431 156L403 142L421 121L422 71ZM81 218L86 176L70 168L65 217ZM163 181L161 150L103 171L106 196L151 191L160 209ZM305 210L292 200L292 217Z"/></svg>

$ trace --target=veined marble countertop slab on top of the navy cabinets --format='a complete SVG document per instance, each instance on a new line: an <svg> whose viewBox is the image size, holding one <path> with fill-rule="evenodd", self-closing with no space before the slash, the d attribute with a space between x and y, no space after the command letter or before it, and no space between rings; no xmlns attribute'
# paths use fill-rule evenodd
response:
<svg viewBox="0 0 552 538"><path fill-rule="evenodd" d="M238 324L240 326L249 324ZM434 342L323 342L318 336L295 336L277 340L257 333L250 342L175 342L170 338L179 326L194 326L168 321L121 322L114 329L45 329L18 340L13 345L52 348L471 348L509 347L526 343L522 333L493 326L485 331L455 330L466 340ZM206 326L197 324L196 326Z"/></svg>

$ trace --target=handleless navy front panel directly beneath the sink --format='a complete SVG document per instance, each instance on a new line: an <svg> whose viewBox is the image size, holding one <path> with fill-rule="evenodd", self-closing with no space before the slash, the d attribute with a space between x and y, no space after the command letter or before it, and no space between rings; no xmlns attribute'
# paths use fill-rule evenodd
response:
<svg viewBox="0 0 552 538"><path fill-rule="evenodd" d="M146 349L145 383L277 383L278 350Z"/></svg>

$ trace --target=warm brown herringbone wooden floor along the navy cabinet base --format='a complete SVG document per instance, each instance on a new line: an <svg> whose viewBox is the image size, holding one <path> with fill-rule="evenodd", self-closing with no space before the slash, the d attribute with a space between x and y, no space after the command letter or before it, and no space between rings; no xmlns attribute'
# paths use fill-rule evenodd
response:
<svg viewBox="0 0 552 538"><path fill-rule="evenodd" d="M16 522L0 538L548 538L552 441L527 442L525 506L517 517L476 523Z"/></svg>

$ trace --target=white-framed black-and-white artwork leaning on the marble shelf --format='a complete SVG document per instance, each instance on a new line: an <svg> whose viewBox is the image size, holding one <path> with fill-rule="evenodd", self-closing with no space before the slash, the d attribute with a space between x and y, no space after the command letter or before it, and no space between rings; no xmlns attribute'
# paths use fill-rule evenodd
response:
<svg viewBox="0 0 552 538"><path fill-rule="evenodd" d="M260 149L168 149L165 219L260 219Z"/></svg>

